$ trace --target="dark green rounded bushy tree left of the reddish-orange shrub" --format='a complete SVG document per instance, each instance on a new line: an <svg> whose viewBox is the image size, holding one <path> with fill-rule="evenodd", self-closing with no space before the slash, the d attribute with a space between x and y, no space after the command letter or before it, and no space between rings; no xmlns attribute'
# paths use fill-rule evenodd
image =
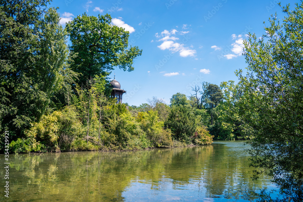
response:
<svg viewBox="0 0 303 202"><path fill-rule="evenodd" d="M172 107L168 120L165 122L165 127L171 129L175 140L189 144L191 142L190 137L194 135L197 127L194 111L182 105Z"/></svg>

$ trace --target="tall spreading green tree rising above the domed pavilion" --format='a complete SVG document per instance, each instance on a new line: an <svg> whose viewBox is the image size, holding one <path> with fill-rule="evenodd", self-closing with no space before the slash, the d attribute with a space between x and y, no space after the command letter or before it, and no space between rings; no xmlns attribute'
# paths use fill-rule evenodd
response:
<svg viewBox="0 0 303 202"><path fill-rule="evenodd" d="M110 15L78 15L66 24L72 45L70 51L77 53L71 68L81 73L78 84L95 75L108 76L114 67L134 70L133 60L142 54L137 46L128 48L129 32L111 25Z"/></svg>

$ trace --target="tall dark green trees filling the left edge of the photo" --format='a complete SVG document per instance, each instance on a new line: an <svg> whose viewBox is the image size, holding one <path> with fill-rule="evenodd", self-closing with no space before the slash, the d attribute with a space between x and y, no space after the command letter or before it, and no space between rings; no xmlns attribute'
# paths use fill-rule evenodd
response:
<svg viewBox="0 0 303 202"><path fill-rule="evenodd" d="M12 137L39 121L68 77L66 32L48 2L0 3L0 124Z"/></svg>

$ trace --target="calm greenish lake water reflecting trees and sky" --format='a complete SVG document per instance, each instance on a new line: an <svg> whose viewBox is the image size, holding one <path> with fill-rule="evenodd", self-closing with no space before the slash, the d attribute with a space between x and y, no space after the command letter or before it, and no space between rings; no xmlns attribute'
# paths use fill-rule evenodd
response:
<svg viewBox="0 0 303 202"><path fill-rule="evenodd" d="M274 187L265 176L251 180L243 143L10 154L10 197L3 197L2 178L0 201L254 201L260 189Z"/></svg>

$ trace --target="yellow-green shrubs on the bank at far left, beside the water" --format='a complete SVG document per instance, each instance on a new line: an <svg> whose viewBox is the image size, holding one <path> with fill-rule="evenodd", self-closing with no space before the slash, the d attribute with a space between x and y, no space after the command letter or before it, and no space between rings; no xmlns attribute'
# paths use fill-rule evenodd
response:
<svg viewBox="0 0 303 202"><path fill-rule="evenodd" d="M82 137L84 129L73 108L43 115L25 131L26 139L12 141L15 153L77 150L76 138Z"/></svg>

